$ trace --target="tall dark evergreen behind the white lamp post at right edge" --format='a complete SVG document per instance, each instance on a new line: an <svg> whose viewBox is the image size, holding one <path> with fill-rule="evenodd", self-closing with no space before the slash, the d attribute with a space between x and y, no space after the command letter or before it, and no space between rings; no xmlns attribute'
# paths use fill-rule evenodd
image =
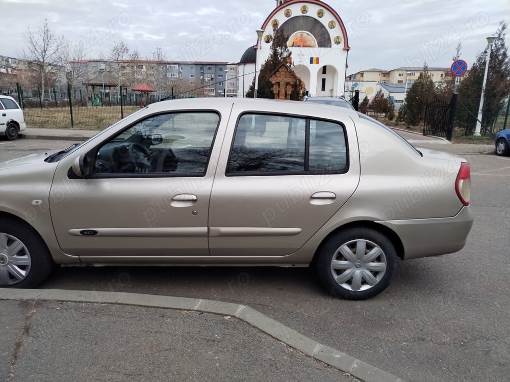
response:
<svg viewBox="0 0 510 382"><path fill-rule="evenodd" d="M482 120L483 127L491 127L502 110L504 100L508 97L510 89L510 58L508 48L505 46L506 28L508 24L500 21L496 31L496 40L492 44L489 60L489 72L485 88ZM476 61L469 68L468 73L458 87L458 99L461 105L457 107L457 123L470 135L476 126L476 116L480 105L483 74L487 62L486 48L476 57ZM482 131L483 133L483 131Z"/></svg>

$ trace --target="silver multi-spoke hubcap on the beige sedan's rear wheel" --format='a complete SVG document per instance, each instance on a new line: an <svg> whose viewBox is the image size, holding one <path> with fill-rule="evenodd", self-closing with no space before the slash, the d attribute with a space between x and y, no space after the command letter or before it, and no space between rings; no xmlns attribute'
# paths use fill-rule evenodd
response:
<svg viewBox="0 0 510 382"><path fill-rule="evenodd" d="M331 260L331 276L342 288L367 290L384 277L386 255L368 240L352 240L338 248Z"/></svg>

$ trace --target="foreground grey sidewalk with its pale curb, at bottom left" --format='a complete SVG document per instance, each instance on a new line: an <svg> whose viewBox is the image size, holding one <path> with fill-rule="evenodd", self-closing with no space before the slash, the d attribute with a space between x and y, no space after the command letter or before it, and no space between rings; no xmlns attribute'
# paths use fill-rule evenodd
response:
<svg viewBox="0 0 510 382"><path fill-rule="evenodd" d="M0 375L9 381L402 381L245 305L0 289L0 307Z"/></svg>

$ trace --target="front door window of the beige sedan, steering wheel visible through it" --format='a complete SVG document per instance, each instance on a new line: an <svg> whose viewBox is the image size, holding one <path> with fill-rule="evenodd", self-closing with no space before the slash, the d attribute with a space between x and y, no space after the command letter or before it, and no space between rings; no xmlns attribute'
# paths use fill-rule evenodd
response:
<svg viewBox="0 0 510 382"><path fill-rule="evenodd" d="M99 147L94 177L204 176L218 123L213 112L148 117Z"/></svg>

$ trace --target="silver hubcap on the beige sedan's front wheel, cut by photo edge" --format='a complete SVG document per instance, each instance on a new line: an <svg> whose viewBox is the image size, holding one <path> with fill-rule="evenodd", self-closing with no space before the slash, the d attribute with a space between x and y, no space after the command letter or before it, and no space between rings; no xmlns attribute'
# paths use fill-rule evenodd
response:
<svg viewBox="0 0 510 382"><path fill-rule="evenodd" d="M15 285L30 272L32 260L25 245L16 237L0 232L0 285Z"/></svg>

